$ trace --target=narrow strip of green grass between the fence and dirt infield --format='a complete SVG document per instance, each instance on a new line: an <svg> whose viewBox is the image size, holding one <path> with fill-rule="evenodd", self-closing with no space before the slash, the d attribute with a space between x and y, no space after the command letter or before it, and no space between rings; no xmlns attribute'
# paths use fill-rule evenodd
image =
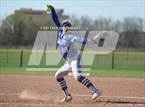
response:
<svg viewBox="0 0 145 107"><path fill-rule="evenodd" d="M0 75L54 75L56 71L26 71L26 68L0 68ZM138 77L145 78L144 70L96 69L84 73L101 77Z"/></svg>

